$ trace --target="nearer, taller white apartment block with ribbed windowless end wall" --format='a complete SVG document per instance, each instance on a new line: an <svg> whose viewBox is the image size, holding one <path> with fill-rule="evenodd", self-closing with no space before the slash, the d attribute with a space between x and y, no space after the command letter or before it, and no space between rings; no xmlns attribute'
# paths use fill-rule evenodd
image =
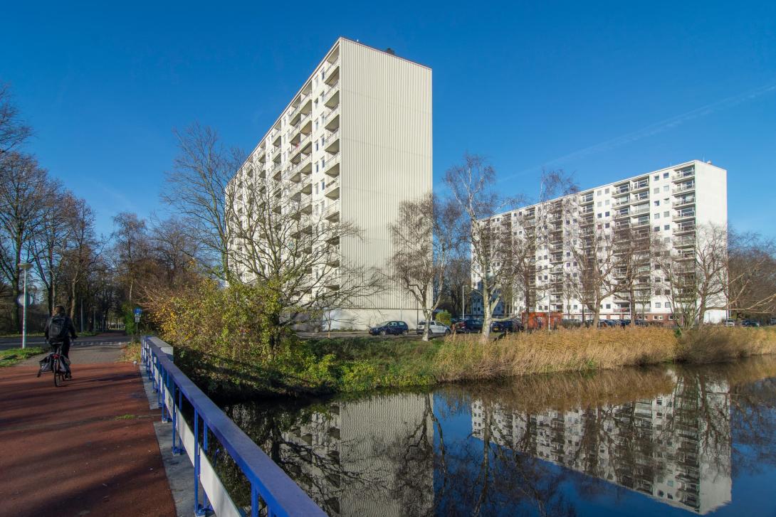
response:
<svg viewBox="0 0 776 517"><path fill-rule="evenodd" d="M431 69L339 38L242 169L290 174L311 215L361 230L338 244L343 264L385 268L400 202L431 191ZM416 316L414 300L393 289L329 319L333 328L356 329L386 319L413 326Z"/></svg>

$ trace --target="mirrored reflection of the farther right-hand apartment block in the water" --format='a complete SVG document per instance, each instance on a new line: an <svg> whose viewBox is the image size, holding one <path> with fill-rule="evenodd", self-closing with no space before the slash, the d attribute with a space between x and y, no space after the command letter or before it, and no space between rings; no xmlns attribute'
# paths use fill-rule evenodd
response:
<svg viewBox="0 0 776 517"><path fill-rule="evenodd" d="M707 384L704 393L677 384L653 400L535 415L494 405L490 441L703 515L732 490L729 391ZM487 408L471 410L483 439Z"/></svg>

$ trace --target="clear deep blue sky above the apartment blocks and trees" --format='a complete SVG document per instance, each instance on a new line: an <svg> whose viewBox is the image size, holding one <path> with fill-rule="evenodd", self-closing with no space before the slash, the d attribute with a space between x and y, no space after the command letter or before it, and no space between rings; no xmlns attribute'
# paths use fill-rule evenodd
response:
<svg viewBox="0 0 776 517"><path fill-rule="evenodd" d="M13 2L0 81L29 150L96 209L163 213L173 128L250 150L338 36L433 69L434 177L480 153L509 193L691 159L776 236L776 2Z"/></svg>

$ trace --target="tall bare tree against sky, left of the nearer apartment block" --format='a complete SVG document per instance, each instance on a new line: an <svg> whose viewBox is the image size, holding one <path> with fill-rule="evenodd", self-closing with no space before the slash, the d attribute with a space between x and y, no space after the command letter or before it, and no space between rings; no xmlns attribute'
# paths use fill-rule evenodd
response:
<svg viewBox="0 0 776 517"><path fill-rule="evenodd" d="M227 149L214 129L198 123L176 130L175 136L179 152L161 198L190 224L189 235L199 240L213 274L229 279L234 272L229 264L230 220L237 207L227 185L243 164L244 153Z"/></svg>

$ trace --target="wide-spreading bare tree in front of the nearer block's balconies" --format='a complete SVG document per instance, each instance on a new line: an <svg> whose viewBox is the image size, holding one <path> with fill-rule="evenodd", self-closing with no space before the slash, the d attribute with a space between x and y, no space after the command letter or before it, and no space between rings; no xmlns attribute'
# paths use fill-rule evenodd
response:
<svg viewBox="0 0 776 517"><path fill-rule="evenodd" d="M333 319L383 290L377 271L341 253L362 232L340 218L339 181L324 184L328 205L313 205L311 171L303 165L278 164L267 174L249 160L225 191L233 281L263 289L271 350L292 326Z"/></svg>

